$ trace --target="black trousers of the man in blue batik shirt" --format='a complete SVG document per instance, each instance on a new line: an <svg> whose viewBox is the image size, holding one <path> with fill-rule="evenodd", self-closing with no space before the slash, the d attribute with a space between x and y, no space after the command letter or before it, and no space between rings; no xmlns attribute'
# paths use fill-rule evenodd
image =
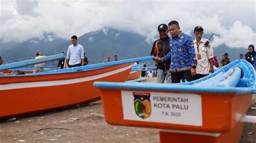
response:
<svg viewBox="0 0 256 143"><path fill-rule="evenodd" d="M172 78L172 83L180 83L180 80L185 82L185 79L186 81L192 81L190 70L172 73L171 78Z"/></svg>

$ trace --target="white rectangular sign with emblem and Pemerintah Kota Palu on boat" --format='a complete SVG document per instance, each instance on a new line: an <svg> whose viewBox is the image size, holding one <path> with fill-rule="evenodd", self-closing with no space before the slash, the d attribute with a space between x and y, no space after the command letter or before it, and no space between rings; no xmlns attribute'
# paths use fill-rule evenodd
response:
<svg viewBox="0 0 256 143"><path fill-rule="evenodd" d="M124 120L202 126L201 95L121 91Z"/></svg>

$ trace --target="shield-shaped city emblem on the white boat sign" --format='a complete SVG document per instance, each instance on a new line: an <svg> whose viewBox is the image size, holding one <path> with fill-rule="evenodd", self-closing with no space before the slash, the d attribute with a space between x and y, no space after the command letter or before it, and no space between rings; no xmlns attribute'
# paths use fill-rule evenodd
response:
<svg viewBox="0 0 256 143"><path fill-rule="evenodd" d="M151 115L150 93L133 92L134 109L140 118L146 119Z"/></svg>

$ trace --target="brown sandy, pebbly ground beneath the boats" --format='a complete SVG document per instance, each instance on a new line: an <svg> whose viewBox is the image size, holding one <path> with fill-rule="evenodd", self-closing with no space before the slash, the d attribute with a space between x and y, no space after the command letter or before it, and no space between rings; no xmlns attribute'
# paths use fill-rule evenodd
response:
<svg viewBox="0 0 256 143"><path fill-rule="evenodd" d="M156 81L156 78L149 81ZM251 107L256 107L256 95ZM251 107L248 115L256 116L256 110ZM159 142L157 129L113 126L104 118L91 118L91 113L103 114L100 101L91 106L73 106L18 117L15 121L1 121L0 142ZM245 124L240 142L256 142L256 124Z"/></svg>

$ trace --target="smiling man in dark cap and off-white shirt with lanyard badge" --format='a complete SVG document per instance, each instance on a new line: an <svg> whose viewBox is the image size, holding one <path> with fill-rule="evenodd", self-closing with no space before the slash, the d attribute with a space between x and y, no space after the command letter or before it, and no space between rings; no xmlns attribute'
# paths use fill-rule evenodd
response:
<svg viewBox="0 0 256 143"><path fill-rule="evenodd" d="M197 74L193 80L198 80L201 77L207 76L209 72L213 73L213 49L208 39L203 38L204 29L201 26L194 27L194 35L196 39L194 42L194 51L197 56ZM207 44L207 43L208 44Z"/></svg>

